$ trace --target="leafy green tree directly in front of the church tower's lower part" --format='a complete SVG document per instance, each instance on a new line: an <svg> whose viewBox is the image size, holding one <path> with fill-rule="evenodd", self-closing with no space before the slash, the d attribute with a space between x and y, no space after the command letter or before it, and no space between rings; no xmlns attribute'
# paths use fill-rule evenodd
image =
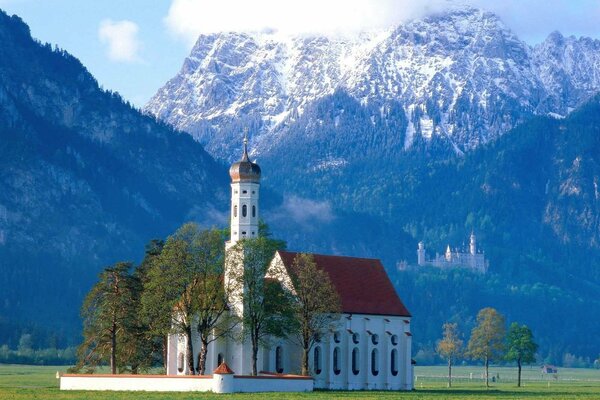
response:
<svg viewBox="0 0 600 400"><path fill-rule="evenodd" d="M252 375L258 372L259 345L268 344L270 337L286 337L294 327L290 293L279 281L266 278L277 247L278 242L266 237L242 239L228 254L226 281L231 287L232 308L243 325L240 339L250 338Z"/></svg>

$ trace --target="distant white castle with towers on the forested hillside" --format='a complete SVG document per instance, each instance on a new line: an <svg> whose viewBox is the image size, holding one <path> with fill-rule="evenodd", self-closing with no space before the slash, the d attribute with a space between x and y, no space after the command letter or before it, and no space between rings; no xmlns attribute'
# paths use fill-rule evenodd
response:
<svg viewBox="0 0 600 400"><path fill-rule="evenodd" d="M488 260L485 259L485 253L477 250L477 239L472 232L468 251L461 251L459 249L452 250L450 245L448 245L444 254L436 253L435 257L429 260L425 253L425 244L419 242L417 248L417 264L419 266L431 266L442 269L466 268L483 274L487 272L489 266Z"/></svg>

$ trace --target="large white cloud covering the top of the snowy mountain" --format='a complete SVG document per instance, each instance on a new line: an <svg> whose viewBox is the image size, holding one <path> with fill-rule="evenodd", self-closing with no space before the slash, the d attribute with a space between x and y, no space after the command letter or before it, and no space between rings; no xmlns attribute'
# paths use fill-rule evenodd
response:
<svg viewBox="0 0 600 400"><path fill-rule="evenodd" d="M193 43L201 33L275 30L352 33L422 16L447 0L173 0L165 24Z"/></svg>

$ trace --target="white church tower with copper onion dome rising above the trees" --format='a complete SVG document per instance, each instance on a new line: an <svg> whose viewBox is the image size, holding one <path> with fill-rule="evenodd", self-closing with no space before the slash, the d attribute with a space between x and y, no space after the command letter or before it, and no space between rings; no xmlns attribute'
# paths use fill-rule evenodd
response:
<svg viewBox="0 0 600 400"><path fill-rule="evenodd" d="M248 157L248 136L244 134L242 159L229 168L231 176L231 238L228 247L240 239L258 237L258 192L260 167Z"/></svg>

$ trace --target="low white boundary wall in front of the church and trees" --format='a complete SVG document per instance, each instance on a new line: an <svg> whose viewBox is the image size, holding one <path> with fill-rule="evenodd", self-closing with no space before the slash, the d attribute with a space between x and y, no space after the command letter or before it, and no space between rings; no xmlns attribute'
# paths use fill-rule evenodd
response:
<svg viewBox="0 0 600 400"><path fill-rule="evenodd" d="M300 375L104 375L64 374L60 390L152 392L312 392L314 381Z"/></svg>

